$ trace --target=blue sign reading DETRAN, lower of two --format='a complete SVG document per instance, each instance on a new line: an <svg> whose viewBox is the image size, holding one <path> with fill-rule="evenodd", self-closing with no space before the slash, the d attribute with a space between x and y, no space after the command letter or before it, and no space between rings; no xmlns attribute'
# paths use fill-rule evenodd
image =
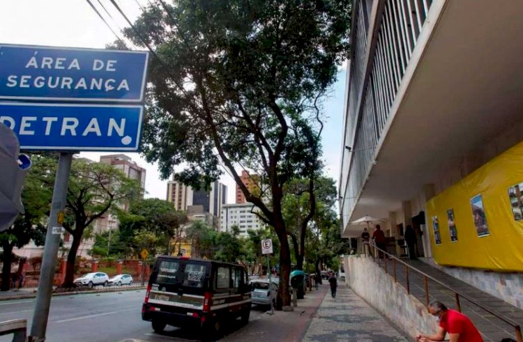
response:
<svg viewBox="0 0 523 342"><path fill-rule="evenodd" d="M0 123L20 150L136 151L142 130L139 105L0 102Z"/></svg>

